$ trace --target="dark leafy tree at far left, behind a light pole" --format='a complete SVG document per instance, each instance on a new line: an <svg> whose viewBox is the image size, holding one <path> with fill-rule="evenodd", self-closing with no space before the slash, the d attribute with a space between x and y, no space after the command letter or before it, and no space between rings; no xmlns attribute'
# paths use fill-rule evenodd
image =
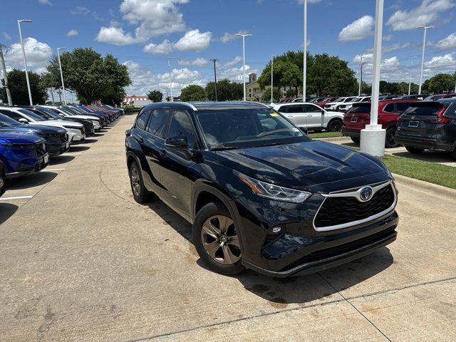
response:
<svg viewBox="0 0 456 342"><path fill-rule="evenodd" d="M28 71L28 79L30 81L31 98L33 104L46 103L48 93L46 87L41 83L41 78L37 73ZM1 80L4 86L4 80ZM19 69L14 69L8 73L8 86L11 91L11 98L15 105L29 105L30 100L28 99L28 89L26 81L26 72ZM6 89L0 88L0 99L4 102L8 102L6 97Z"/></svg>

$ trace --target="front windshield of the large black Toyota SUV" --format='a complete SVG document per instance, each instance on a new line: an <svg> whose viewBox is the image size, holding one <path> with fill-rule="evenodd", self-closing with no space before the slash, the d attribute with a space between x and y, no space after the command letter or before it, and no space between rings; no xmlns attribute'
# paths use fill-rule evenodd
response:
<svg viewBox="0 0 456 342"><path fill-rule="evenodd" d="M197 119L209 148L309 141L301 130L269 108L198 110Z"/></svg>

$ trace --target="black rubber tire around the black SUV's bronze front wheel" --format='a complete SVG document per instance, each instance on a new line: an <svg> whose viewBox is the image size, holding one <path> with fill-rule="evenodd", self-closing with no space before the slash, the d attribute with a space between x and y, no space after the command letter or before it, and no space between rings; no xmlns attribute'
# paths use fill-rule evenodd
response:
<svg viewBox="0 0 456 342"><path fill-rule="evenodd" d="M239 248L237 248L237 247L234 247L234 245L229 245L228 243L225 244L225 248L229 248L230 252L234 251L233 255L236 257L236 259L237 258L239 258L239 259L237 259L237 261L232 264L224 264L223 261L217 261L217 259L224 259L224 250L222 250L222 247L219 247L219 249L217 249L217 253L214 253L214 255L216 257L220 256L220 255L222 257L214 258L209 255L209 252L207 252L207 250L204 248L204 245L203 245L203 243L207 244L207 245L211 243L211 242L207 242L207 241L203 242L204 232L202 232L202 229L203 229L204 223L209 222L209 219L211 219L212 217L220 217L220 216L227 217L227 218L229 218L229 220L232 221L231 215L229 214L227 208L224 207L224 205L222 203L212 202L212 203L208 203L208 204L204 205L204 207L202 207L199 210L199 212L197 212L195 221L193 222L193 232L192 232L193 243L195 244L195 249L197 250L199 257L201 257L201 259L204 261L205 264L207 264L207 266L209 266L210 269L212 269L220 274L227 274L227 275L232 276L234 274L239 274L240 272L245 270L245 267L241 264L240 257L242 255L242 251L241 251L240 246L239 246ZM213 222L214 226L217 228L217 222L218 222L217 218L214 218L214 221L210 221L210 222ZM219 227L220 226L221 225L219 223ZM234 234L236 234L236 236L237 236L237 233L235 232L234 223L229 225L229 229L231 229L231 233L229 233L229 234L233 234L233 229L234 229ZM226 234L226 236L228 236L228 233ZM207 235L207 237L210 237L210 235ZM212 243L221 241L221 239L215 239L215 238L213 238L213 240L214 241ZM238 241L239 241L239 239L238 239ZM238 244L239 244L239 242L238 242ZM227 261L227 262L229 262L229 261Z"/></svg>

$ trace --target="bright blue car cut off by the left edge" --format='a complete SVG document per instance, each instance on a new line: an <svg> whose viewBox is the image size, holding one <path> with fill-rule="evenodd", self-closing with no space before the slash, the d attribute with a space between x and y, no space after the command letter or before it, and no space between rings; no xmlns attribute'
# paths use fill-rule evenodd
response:
<svg viewBox="0 0 456 342"><path fill-rule="evenodd" d="M39 172L49 164L43 138L31 133L0 133L0 160L7 179Z"/></svg>

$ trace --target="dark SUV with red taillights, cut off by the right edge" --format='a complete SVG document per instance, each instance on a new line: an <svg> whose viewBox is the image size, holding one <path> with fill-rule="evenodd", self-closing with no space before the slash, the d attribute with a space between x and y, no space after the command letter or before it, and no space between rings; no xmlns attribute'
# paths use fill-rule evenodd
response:
<svg viewBox="0 0 456 342"><path fill-rule="evenodd" d="M456 159L456 98L411 103L399 117L395 142L410 153L442 150Z"/></svg>

